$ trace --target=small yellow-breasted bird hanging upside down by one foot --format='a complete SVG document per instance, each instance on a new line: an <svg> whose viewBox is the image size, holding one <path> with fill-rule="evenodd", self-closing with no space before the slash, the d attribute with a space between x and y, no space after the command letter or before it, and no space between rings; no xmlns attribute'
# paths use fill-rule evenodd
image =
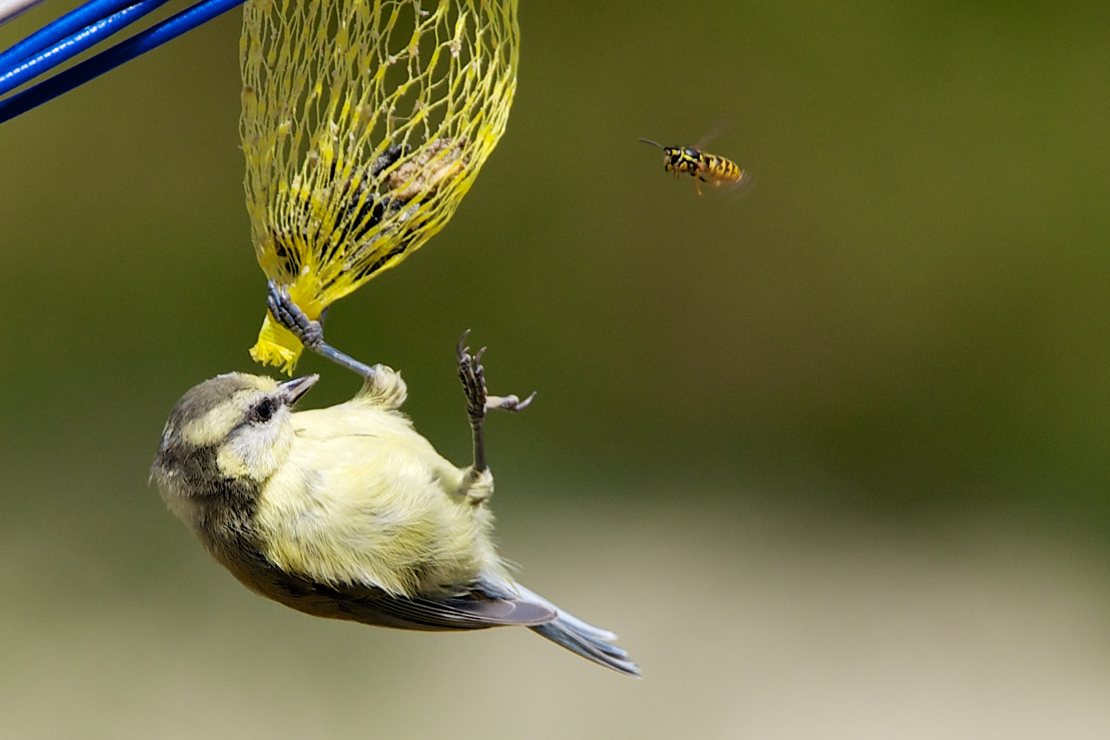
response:
<svg viewBox="0 0 1110 740"><path fill-rule="evenodd" d="M523 626L638 676L613 632L516 584L494 547L485 414L522 410L535 394L488 395L484 348L472 356L464 334L456 359L474 463L457 468L397 410L407 394L398 373L326 344L273 281L268 303L305 347L364 383L346 403L303 412L293 405L317 375L230 373L181 397L151 477L209 553L251 590L310 615L415 630Z"/></svg>

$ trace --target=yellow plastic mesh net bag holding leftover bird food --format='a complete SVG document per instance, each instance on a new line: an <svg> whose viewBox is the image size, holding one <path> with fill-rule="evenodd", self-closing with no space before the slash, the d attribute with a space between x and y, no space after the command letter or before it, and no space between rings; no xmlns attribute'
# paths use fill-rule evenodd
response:
<svg viewBox="0 0 1110 740"><path fill-rule="evenodd" d="M508 119L516 6L244 6L241 134L254 251L310 318L404 260L455 212ZM300 354L266 314L251 356L291 372Z"/></svg>

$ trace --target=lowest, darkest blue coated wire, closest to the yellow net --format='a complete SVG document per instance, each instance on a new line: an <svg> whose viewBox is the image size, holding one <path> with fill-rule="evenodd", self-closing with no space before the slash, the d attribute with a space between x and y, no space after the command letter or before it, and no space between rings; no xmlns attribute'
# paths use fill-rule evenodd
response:
<svg viewBox="0 0 1110 740"><path fill-rule="evenodd" d="M182 10L176 16L172 16L158 26L153 26L145 31L134 34L127 41L121 41L111 49L100 52L91 59L87 59L80 64L74 64L63 72L59 72L49 80L44 80L33 88L18 92L0 100L0 123L10 121L21 113L26 113L32 108L53 100L58 95L69 92L73 88L81 85L89 80L100 77L104 72L115 69L120 64L128 62L140 54L144 54L151 49L162 45L167 41L172 41L182 33L190 31L198 26L221 16L232 8L240 6L244 0L202 0L191 8Z"/></svg>

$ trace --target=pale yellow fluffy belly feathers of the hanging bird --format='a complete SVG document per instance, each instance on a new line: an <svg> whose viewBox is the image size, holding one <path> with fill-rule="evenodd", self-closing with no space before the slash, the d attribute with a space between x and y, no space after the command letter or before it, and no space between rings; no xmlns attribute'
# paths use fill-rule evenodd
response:
<svg viewBox="0 0 1110 740"><path fill-rule="evenodd" d="M496 567L488 510L457 495L463 473L403 416L351 406L294 415L289 462L255 513L266 558L320 582L397 596Z"/></svg>

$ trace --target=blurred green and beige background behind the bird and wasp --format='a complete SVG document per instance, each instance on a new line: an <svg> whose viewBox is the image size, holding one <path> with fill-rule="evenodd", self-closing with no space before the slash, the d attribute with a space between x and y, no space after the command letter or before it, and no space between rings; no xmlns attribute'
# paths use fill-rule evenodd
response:
<svg viewBox="0 0 1110 740"><path fill-rule="evenodd" d="M147 485L259 369L234 11L0 126L0 734L1104 737L1110 6L522 4L500 148L329 335L458 463L464 328L539 392L503 553L645 679L266 602ZM723 121L743 197L636 142Z"/></svg>

